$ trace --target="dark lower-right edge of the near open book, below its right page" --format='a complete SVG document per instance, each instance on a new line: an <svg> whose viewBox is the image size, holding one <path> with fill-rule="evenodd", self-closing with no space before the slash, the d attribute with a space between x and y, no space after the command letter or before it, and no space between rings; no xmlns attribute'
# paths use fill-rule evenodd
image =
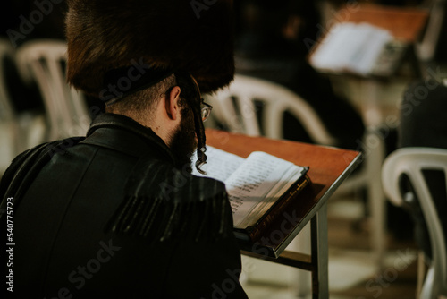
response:
<svg viewBox="0 0 447 299"><path fill-rule="evenodd" d="M291 203L291 201L295 200L300 192L306 188L310 184L310 178L308 175L304 175L294 187L291 188L290 192L287 192L283 195L281 200L274 205L273 209L271 209L265 218L262 218L256 226L249 228L249 238L252 242L257 241L267 230L268 227L272 225L274 220L278 218L285 208Z"/></svg>

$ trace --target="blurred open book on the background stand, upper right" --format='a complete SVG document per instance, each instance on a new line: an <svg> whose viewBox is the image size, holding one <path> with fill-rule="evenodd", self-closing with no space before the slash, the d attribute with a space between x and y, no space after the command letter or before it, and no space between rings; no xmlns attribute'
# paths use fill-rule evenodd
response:
<svg viewBox="0 0 447 299"><path fill-rule="evenodd" d="M389 76L395 73L407 46L387 30L367 23L341 22L316 45L309 63L324 72Z"/></svg>

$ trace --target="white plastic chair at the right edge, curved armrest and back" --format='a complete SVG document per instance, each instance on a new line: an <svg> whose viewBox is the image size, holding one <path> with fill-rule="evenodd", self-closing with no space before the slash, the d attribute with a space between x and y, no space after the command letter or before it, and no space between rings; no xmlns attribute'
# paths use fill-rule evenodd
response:
<svg viewBox="0 0 447 299"><path fill-rule="evenodd" d="M432 262L420 298L434 299L447 295L447 249L444 229L429 192L423 170L441 170L447 175L447 149L403 148L385 158L382 167L384 192L395 205L403 203L399 182L402 174L409 177L416 192L432 245ZM447 182L444 186L447 188ZM444 199L447 201L447 199ZM445 215L443 215L445 217Z"/></svg>

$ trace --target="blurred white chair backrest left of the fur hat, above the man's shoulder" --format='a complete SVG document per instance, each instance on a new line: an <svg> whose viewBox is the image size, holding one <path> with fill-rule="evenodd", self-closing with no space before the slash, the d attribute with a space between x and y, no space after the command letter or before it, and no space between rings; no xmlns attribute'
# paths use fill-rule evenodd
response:
<svg viewBox="0 0 447 299"><path fill-rule="evenodd" d="M66 82L67 45L60 40L36 40L17 50L17 64L24 81L36 81L44 98L48 140L83 135L90 123L82 94Z"/></svg>

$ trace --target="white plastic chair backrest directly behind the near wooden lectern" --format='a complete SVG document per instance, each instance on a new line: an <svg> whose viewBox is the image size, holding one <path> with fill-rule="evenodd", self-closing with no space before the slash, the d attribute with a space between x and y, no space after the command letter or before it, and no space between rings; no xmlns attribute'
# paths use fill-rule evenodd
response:
<svg viewBox="0 0 447 299"><path fill-rule="evenodd" d="M212 115L232 132L261 134L255 105L255 101L260 101L266 137L283 138L283 114L288 111L299 120L312 141L336 144L315 110L303 98L274 82L236 74L229 87L208 96L207 100L215 106Z"/></svg>

